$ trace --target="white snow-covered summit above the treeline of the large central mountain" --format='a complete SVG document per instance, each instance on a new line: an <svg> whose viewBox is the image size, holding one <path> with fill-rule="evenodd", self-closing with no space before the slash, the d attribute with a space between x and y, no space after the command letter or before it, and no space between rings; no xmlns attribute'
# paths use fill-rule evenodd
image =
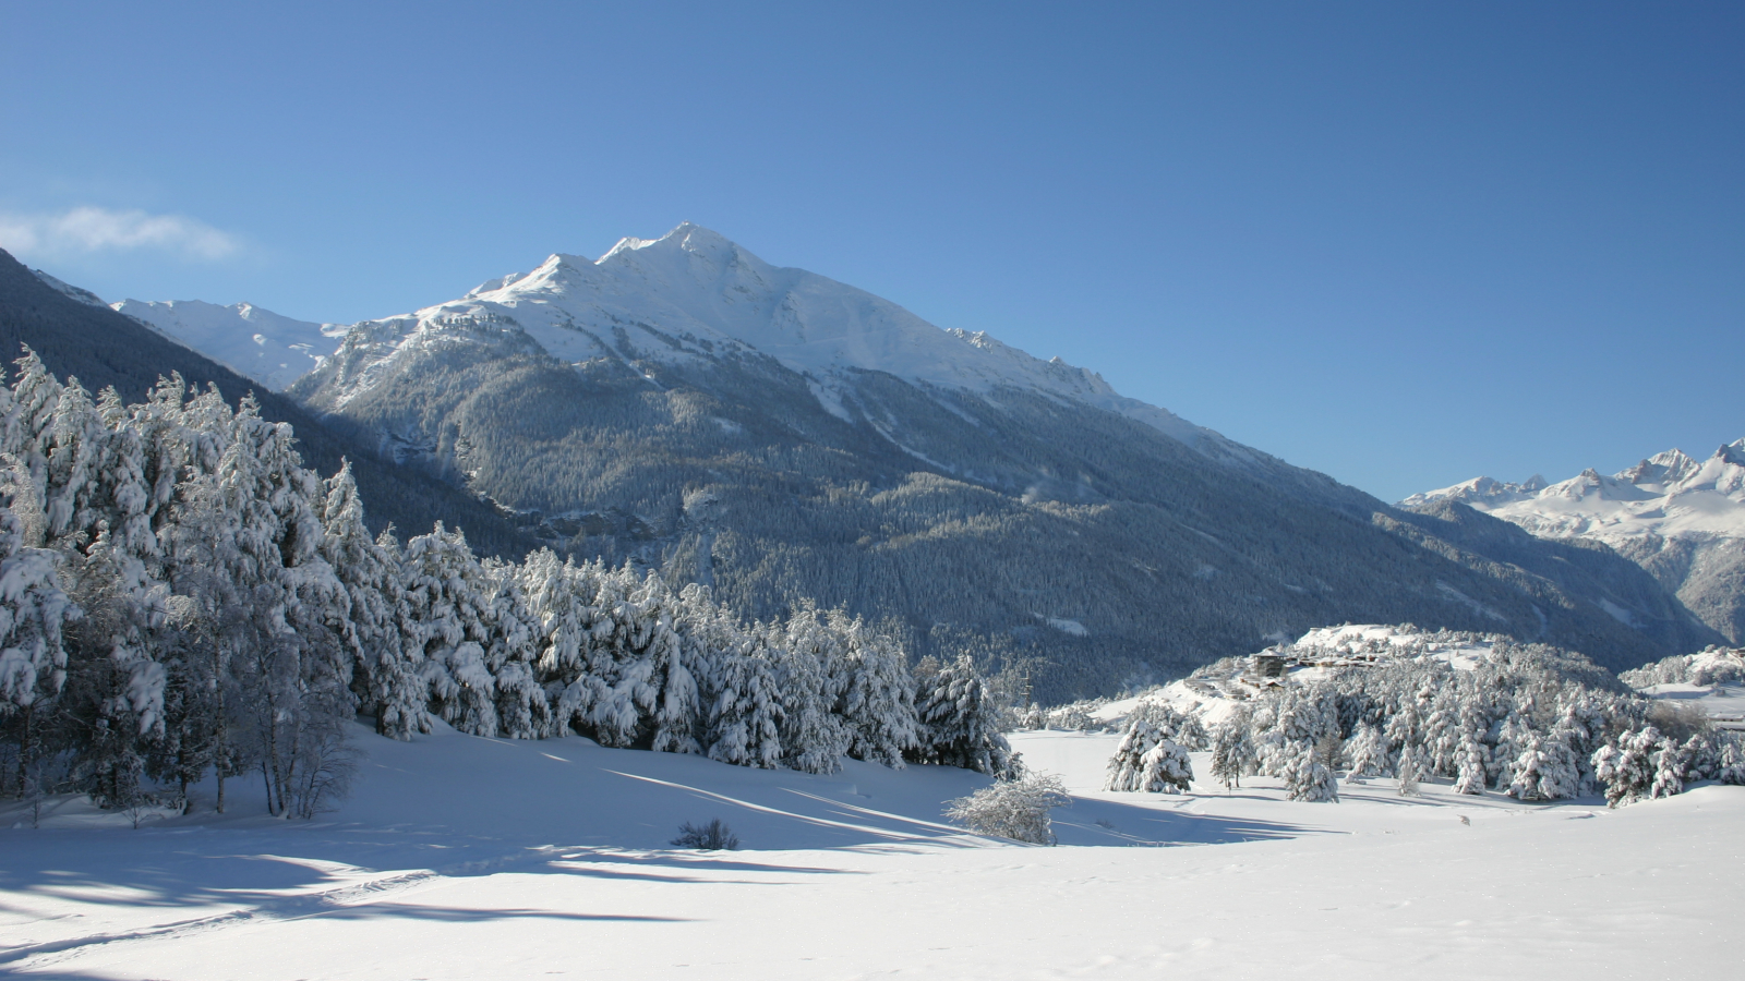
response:
<svg viewBox="0 0 1745 981"><path fill-rule="evenodd" d="M457 300L379 323L393 325L400 344L415 347L450 325L480 321L518 326L569 363L773 358L806 375L818 401L845 419L852 415L855 374L885 372L979 394L1026 389L1127 415L1218 456L1258 456L1122 396L1094 372L1033 358L988 333L941 330L864 290L770 265L689 222L658 239L619 239L597 260L557 253L532 272L490 279ZM370 377L359 374L358 384Z"/></svg>

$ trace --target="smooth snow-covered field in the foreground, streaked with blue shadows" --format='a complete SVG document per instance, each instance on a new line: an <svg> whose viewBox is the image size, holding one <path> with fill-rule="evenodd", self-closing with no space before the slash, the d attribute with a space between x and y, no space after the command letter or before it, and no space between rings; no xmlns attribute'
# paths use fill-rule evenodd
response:
<svg viewBox="0 0 1745 981"><path fill-rule="evenodd" d="M581 738L359 731L316 822L0 813L0 972L31 978L1721 978L1745 787L1342 803L1277 782L1098 791L1119 737L1019 733L1075 794L1057 848L944 826L984 777L815 777ZM1195 770L1206 775L1195 754ZM721 817L738 852L667 848Z"/></svg>

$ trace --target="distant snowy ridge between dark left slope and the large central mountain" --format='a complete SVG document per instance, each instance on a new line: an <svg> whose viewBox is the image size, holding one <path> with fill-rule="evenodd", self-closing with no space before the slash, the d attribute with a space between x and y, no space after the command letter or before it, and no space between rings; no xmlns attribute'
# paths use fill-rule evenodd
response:
<svg viewBox="0 0 1745 981"><path fill-rule="evenodd" d="M122 300L110 305L274 391L319 368L351 330L291 319L253 304Z"/></svg>

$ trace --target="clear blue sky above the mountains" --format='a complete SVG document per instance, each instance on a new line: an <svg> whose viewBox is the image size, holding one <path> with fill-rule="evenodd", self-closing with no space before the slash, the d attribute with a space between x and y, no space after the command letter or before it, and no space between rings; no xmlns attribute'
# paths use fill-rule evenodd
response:
<svg viewBox="0 0 1745 981"><path fill-rule="evenodd" d="M352 321L698 222L1384 499L1745 436L1738 3L0 0L0 246Z"/></svg>

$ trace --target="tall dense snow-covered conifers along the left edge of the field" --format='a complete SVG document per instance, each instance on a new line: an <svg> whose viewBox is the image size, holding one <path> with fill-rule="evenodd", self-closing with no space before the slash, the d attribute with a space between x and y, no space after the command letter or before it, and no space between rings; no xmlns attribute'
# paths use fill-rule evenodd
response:
<svg viewBox="0 0 1745 981"><path fill-rule="evenodd" d="M1017 768L968 658L839 609L745 621L705 587L550 550L480 557L440 522L365 527L351 468L291 426L162 379L92 398L26 349L0 386L0 794L187 806L258 773L269 810L347 791L347 723L832 772Z"/></svg>

